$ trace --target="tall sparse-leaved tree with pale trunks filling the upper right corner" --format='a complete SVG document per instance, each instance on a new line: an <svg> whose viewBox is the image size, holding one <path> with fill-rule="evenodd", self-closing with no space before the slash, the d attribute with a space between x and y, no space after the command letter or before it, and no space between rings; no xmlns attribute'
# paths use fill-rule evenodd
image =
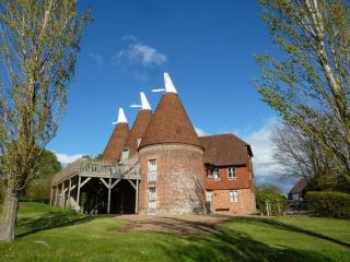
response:
<svg viewBox="0 0 350 262"><path fill-rule="evenodd" d="M350 183L350 12L345 0L260 0L282 55L256 56L255 85L285 124L317 144ZM276 56L277 57L277 56Z"/></svg>

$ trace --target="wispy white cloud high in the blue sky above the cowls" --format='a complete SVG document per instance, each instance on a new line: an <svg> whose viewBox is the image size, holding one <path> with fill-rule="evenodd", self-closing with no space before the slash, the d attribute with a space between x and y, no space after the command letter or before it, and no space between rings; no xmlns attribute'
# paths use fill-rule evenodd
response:
<svg viewBox="0 0 350 262"><path fill-rule="evenodd" d="M155 47L151 47L139 41L135 36L128 35L122 37L131 44L113 57L118 63L127 61L129 63L142 64L143 67L161 66L167 61L167 57L160 52Z"/></svg>

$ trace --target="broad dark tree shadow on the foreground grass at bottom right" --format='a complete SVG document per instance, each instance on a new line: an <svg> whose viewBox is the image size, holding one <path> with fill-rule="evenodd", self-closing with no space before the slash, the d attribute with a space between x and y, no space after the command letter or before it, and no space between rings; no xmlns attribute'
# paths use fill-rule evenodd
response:
<svg viewBox="0 0 350 262"><path fill-rule="evenodd" d="M180 230L179 226L185 235L187 233L186 228L191 227L197 228L205 235L188 235L186 242L172 241L170 238L163 237L162 250L171 261L331 261L317 251L269 247L253 239L247 234L231 228L215 227L179 218L172 219L174 219L174 223L171 223L171 221L166 223L158 222L159 226L166 228L170 233ZM245 219L249 221L249 218ZM210 235L207 235L208 233Z"/></svg>

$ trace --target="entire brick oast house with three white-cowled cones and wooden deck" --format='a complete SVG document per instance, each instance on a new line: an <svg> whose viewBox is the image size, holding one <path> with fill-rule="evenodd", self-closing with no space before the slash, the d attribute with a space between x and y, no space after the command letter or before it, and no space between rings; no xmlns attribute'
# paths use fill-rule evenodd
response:
<svg viewBox="0 0 350 262"><path fill-rule="evenodd" d="M198 138L167 73L164 82L153 114L141 93L131 130L119 109L97 162L54 177L51 203L90 213L254 213L250 146L234 134Z"/></svg>

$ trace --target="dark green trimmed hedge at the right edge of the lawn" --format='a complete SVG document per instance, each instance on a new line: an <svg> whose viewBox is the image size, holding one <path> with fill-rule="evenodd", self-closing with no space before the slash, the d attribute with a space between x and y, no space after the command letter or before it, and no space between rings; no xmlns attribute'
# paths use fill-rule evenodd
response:
<svg viewBox="0 0 350 262"><path fill-rule="evenodd" d="M311 215L350 218L350 194L341 192L307 192L305 195Z"/></svg>

